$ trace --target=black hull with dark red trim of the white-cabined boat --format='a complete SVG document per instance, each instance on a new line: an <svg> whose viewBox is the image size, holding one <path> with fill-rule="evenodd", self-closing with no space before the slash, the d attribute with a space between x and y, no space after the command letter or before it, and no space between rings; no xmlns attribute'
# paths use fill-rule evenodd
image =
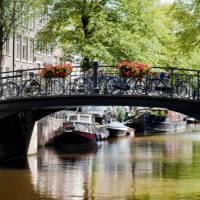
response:
<svg viewBox="0 0 200 200"><path fill-rule="evenodd" d="M95 134L79 131L63 132L54 139L54 145L57 147L73 148L76 146L95 145L96 143Z"/></svg>

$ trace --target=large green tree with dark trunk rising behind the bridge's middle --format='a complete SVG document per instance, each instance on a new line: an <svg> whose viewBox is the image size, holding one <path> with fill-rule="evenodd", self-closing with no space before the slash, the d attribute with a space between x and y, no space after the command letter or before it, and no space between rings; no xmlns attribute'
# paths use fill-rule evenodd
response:
<svg viewBox="0 0 200 200"><path fill-rule="evenodd" d="M83 66L97 59L159 63L163 45L155 23L156 0L46 0L51 5L42 42L59 44L64 55L82 56Z"/></svg>

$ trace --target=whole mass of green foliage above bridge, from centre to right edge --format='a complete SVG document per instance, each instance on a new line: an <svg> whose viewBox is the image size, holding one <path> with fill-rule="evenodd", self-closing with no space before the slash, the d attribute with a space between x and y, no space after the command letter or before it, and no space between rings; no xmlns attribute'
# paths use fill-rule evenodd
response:
<svg viewBox="0 0 200 200"><path fill-rule="evenodd" d="M197 67L199 0L42 0L51 8L41 42L59 45L63 57L80 55L115 64L135 60L151 65Z"/></svg>

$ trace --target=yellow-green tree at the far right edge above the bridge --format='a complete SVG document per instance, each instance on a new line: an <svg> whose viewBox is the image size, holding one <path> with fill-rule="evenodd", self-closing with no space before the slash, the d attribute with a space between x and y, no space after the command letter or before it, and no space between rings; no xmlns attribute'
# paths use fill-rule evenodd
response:
<svg viewBox="0 0 200 200"><path fill-rule="evenodd" d="M166 15L169 17L169 15ZM200 1L177 0L170 7L172 36L174 40L171 58L176 65L199 69L200 59ZM168 48L169 50L169 48ZM170 58L168 59L170 60Z"/></svg>

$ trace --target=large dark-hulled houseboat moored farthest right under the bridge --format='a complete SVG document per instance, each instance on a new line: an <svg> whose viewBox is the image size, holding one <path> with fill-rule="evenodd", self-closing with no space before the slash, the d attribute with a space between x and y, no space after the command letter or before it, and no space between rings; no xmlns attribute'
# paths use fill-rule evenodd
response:
<svg viewBox="0 0 200 200"><path fill-rule="evenodd" d="M135 128L136 136L163 132L177 132L186 129L185 115L164 108L143 108L126 125Z"/></svg>

